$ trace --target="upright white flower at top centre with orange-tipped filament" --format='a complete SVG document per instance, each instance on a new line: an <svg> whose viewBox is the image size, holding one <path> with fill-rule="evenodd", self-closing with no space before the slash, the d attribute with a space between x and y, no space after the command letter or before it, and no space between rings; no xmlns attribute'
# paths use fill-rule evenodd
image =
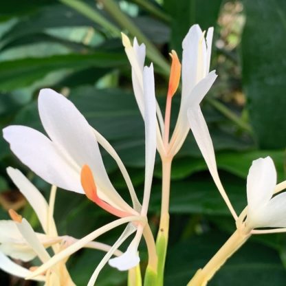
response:
<svg viewBox="0 0 286 286"><path fill-rule="evenodd" d="M215 71L209 72L212 34L213 28L209 28L205 39L205 32L201 31L199 25L192 25L182 43L183 56L181 66L175 51L172 51L170 54L173 63L170 71L165 120L163 120L162 113L157 104L157 149L161 156L170 155L173 157L179 151L189 131L187 119L188 108L201 102L217 78ZM135 98L144 118L142 70L146 54L145 45L138 45L135 38L132 46L128 37L124 34L122 34L122 42L132 67ZM179 85L180 71L182 88L181 106L175 130L169 142L171 100Z"/></svg>

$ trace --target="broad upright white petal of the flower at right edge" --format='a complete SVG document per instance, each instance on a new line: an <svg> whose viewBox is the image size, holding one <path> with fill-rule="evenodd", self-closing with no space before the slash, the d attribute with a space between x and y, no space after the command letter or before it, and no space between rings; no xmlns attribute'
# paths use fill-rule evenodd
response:
<svg viewBox="0 0 286 286"><path fill-rule="evenodd" d="M248 173L248 223L256 225L276 186L276 170L270 157L256 159Z"/></svg>

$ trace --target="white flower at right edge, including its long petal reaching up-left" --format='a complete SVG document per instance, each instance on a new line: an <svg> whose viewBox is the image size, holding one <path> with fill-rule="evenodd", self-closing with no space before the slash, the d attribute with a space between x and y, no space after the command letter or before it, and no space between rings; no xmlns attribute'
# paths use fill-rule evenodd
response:
<svg viewBox="0 0 286 286"><path fill-rule="evenodd" d="M188 122L214 183L232 212L236 225L243 225L243 228L252 234L284 232L286 228L286 192L275 197L272 196L286 188L286 181L276 185L276 170L272 159L266 157L252 162L247 180L248 207L238 217L221 184L212 139L199 104L188 109ZM243 222L245 216L247 219ZM278 229L253 230L254 228Z"/></svg>

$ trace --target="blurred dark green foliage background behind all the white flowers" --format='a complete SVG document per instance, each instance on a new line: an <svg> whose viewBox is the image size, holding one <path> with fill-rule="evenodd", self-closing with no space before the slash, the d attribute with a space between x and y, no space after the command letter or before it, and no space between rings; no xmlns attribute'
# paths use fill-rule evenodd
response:
<svg viewBox="0 0 286 286"><path fill-rule="evenodd" d="M219 77L203 100L223 185L237 212L246 204L245 180L253 159L270 155L278 181L285 179L286 1L275 0L10 0L0 4L0 126L24 124L43 130L36 108L39 89L69 96L89 123L118 151L142 197L144 129L131 84L131 67L120 32L147 46L155 65L156 95L164 110L170 58L181 57L190 25L214 26L211 69ZM173 100L173 125L179 108ZM102 152L111 181L128 193L115 162ZM50 186L31 173L0 139L0 217L14 208L35 229L31 207L5 173L20 168L48 197ZM155 166L149 219L157 232L161 166ZM82 237L113 218L86 197L59 190L55 219L60 234ZM177 155L170 197L170 245L165 285L186 285L234 231L191 133ZM113 243L122 229L98 241ZM122 248L124 249L124 248ZM103 254L81 250L68 267L86 285ZM142 245L142 269L146 250ZM37 261L34 261L36 264ZM25 265L30 266L30 265ZM210 282L223 285L285 285L286 236L252 237ZM1 285L35 285L0 272ZM126 272L108 265L99 286L126 285Z"/></svg>

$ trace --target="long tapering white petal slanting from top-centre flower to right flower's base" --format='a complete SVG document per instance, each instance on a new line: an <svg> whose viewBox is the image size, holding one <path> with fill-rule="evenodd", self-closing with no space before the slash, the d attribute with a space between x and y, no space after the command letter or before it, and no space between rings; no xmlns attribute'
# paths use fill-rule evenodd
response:
<svg viewBox="0 0 286 286"><path fill-rule="evenodd" d="M237 219L236 212L234 211L234 208L228 199L228 195L226 195L226 192L221 184L221 179L219 179L219 173L217 172L217 162L214 155L214 147L212 145L212 138L210 137L210 132L208 131L206 120L203 118L203 114L201 113L201 108L199 105L188 110L188 122L190 124L190 130L192 131L197 145L199 146L199 150L203 155L203 159L205 159L208 169L210 170L210 175L212 175L212 179L214 179L214 183L219 189L219 192L221 193L221 196L230 209L230 212L232 212L232 216L234 219Z"/></svg>

